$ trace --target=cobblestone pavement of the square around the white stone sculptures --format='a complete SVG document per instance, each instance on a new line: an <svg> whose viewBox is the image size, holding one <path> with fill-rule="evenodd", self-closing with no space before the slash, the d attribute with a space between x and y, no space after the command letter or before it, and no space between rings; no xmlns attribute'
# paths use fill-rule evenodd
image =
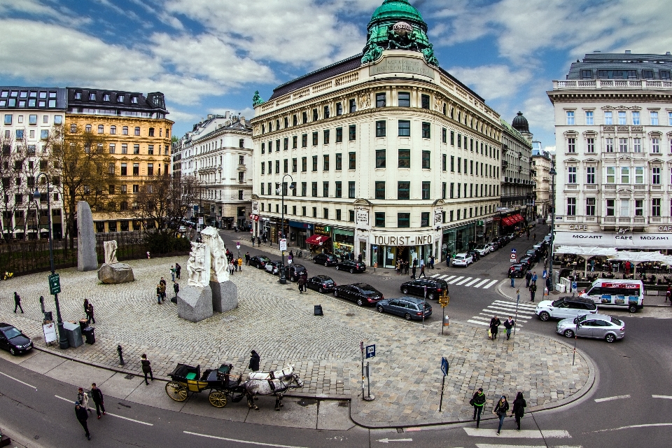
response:
<svg viewBox="0 0 672 448"><path fill-rule="evenodd" d="M99 283L96 272L60 271L64 320L84 316L85 297L94 304L97 319L96 344L68 349L66 356L118 368L116 347L121 344L124 370L140 372L140 355L147 353L155 374L165 376L176 363L206 368L230 362L234 372L242 372L255 349L264 370L295 364L305 381L297 392L352 398L351 416L365 426L469 419L468 401L479 386L491 399L522 390L533 409L561 402L590 385L589 360L579 354L572 366L572 349L554 339L521 334L510 341L491 341L486 330L459 324L451 324L442 336L440 321L422 328L313 291L299 294L295 283L279 285L277 277L250 267L232 276L239 291L237 309L189 323L177 317L174 304L159 305L154 298L156 283L161 276L170 281L169 268L176 261L186 266L186 257L130 261L136 281L124 285ZM12 312L14 290L22 296L25 314ZM44 295L52 310L48 293L45 273L1 282L0 320L44 346L38 297ZM322 305L324 316L313 315L314 304ZM372 393L377 396L372 402L357 398L362 340L377 344L377 356L370 360ZM57 346L50 349L59 352ZM442 356L451 367L438 412Z"/></svg>

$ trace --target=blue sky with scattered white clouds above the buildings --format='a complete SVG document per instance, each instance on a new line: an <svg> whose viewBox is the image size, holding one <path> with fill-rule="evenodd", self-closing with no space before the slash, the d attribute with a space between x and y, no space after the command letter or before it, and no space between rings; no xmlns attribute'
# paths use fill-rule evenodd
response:
<svg viewBox="0 0 672 448"><path fill-rule="evenodd" d="M382 0L0 0L0 85L164 92L174 135L361 52ZM672 50L659 0L411 0L440 65L555 146L546 90L587 52Z"/></svg>

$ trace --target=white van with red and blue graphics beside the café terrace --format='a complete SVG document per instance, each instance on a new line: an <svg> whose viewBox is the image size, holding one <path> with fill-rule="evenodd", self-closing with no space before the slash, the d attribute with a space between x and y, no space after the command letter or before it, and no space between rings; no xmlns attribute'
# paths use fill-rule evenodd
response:
<svg viewBox="0 0 672 448"><path fill-rule="evenodd" d="M641 280L597 279L582 290L580 297L586 297L599 307L627 307L631 313L644 307L644 283Z"/></svg>

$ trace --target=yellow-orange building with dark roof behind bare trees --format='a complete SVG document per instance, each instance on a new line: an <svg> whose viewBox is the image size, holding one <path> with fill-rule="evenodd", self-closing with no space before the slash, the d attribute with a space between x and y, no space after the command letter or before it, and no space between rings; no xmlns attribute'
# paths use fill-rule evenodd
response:
<svg viewBox="0 0 672 448"><path fill-rule="evenodd" d="M96 232L141 230L133 195L150 176L170 174L172 125L161 92L144 94L68 87L66 132L90 131L106 140L115 180L93 209Z"/></svg>

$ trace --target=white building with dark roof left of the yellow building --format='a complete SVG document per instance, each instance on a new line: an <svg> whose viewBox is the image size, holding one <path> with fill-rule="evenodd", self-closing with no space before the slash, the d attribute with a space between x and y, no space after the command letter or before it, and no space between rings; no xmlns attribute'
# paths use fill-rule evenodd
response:
<svg viewBox="0 0 672 448"><path fill-rule="evenodd" d="M62 197L45 194L48 141L54 127L65 123L66 90L59 87L0 86L0 178L2 228L6 237L48 237L47 195L52 209L52 231L63 236ZM33 200L39 186L39 202Z"/></svg>

